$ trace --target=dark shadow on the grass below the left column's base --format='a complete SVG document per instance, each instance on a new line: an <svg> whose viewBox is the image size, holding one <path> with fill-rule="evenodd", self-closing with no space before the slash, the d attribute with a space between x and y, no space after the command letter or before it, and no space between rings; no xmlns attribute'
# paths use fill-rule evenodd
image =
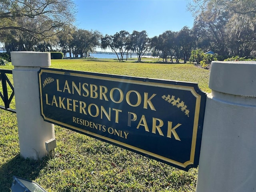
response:
<svg viewBox="0 0 256 192"><path fill-rule="evenodd" d="M28 180L35 180L40 170L46 166L48 157L38 161L24 159L16 155L0 167L0 192L10 192L12 176L18 176Z"/></svg>

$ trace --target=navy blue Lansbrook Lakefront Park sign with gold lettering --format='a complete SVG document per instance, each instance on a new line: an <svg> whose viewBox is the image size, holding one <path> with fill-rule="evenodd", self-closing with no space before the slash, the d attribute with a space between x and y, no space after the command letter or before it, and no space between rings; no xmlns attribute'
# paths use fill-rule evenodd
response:
<svg viewBox="0 0 256 192"><path fill-rule="evenodd" d="M41 68L45 121L182 170L197 167L206 94L196 83Z"/></svg>

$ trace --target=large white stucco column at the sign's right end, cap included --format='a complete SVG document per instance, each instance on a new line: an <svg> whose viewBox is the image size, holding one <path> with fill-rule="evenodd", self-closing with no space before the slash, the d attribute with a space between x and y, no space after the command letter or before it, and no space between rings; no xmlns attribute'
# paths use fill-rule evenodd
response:
<svg viewBox="0 0 256 192"><path fill-rule="evenodd" d="M256 191L256 62L212 62L196 192Z"/></svg>

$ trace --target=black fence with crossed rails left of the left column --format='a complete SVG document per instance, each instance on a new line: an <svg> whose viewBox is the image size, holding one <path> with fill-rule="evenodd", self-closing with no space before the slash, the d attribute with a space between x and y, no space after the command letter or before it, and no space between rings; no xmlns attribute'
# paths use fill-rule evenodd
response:
<svg viewBox="0 0 256 192"><path fill-rule="evenodd" d="M4 102L4 106L0 105L0 109L4 109L7 111L16 113L16 110L10 108L10 103L14 96L14 87L6 74L12 74L12 70L0 69L0 82L2 82L2 91L3 91L3 92L0 91L0 96L2 101ZM8 96L7 84L12 89L12 93L10 97Z"/></svg>

